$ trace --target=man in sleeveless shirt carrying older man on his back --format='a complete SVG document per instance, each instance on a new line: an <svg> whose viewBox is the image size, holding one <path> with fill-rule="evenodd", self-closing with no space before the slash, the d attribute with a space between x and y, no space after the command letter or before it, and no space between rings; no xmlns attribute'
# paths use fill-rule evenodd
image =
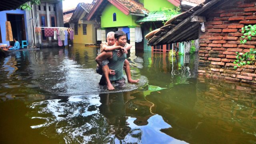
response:
<svg viewBox="0 0 256 144"><path fill-rule="evenodd" d="M123 68L125 68L128 82L137 83L139 81L132 80L130 64L126 60L126 53L130 48L131 45L126 43L126 34L122 31L109 32L107 34L107 43L101 44L101 54L96 58L96 62L99 65L96 71L102 74L100 84L107 84L108 90L114 89L111 82L116 82L120 85L125 84Z"/></svg>

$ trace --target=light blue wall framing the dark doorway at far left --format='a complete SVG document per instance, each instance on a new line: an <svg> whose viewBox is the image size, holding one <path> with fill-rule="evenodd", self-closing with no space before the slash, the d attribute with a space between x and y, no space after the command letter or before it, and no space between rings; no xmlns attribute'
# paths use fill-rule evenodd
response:
<svg viewBox="0 0 256 144"><path fill-rule="evenodd" d="M19 10L19 9L17 9L17 10L5 10L5 11L0 12L0 27L1 27L1 36L2 36L2 43L0 43L0 44L8 44L9 45L9 41L6 41L6 28L5 28L6 14L24 14L26 39L28 40L26 12L24 10Z"/></svg>

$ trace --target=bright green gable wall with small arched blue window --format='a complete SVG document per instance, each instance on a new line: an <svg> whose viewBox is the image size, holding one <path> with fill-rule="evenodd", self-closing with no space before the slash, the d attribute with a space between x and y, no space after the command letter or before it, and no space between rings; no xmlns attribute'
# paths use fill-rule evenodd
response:
<svg viewBox="0 0 256 144"><path fill-rule="evenodd" d="M113 21L113 13L116 13L116 21ZM125 15L114 5L108 3L105 9L102 12L101 16L101 27L110 28L110 27L121 27L121 26L139 26L135 23L138 16Z"/></svg>

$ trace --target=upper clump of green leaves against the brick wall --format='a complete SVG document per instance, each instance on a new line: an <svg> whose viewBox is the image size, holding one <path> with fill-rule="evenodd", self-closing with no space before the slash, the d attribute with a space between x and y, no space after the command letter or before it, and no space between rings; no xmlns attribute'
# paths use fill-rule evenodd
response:
<svg viewBox="0 0 256 144"><path fill-rule="evenodd" d="M241 36L240 38L240 44L245 44L247 42L247 40L252 40L252 36L256 35L256 24L255 25L248 25L248 26L244 26L242 28L242 34L244 34L243 36Z"/></svg>

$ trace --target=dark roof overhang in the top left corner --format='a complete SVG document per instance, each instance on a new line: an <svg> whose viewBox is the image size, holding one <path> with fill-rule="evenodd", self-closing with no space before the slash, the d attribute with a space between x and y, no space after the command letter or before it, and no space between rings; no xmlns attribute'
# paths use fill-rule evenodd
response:
<svg viewBox="0 0 256 144"><path fill-rule="evenodd" d="M0 0L0 11L14 10L29 0Z"/></svg>

